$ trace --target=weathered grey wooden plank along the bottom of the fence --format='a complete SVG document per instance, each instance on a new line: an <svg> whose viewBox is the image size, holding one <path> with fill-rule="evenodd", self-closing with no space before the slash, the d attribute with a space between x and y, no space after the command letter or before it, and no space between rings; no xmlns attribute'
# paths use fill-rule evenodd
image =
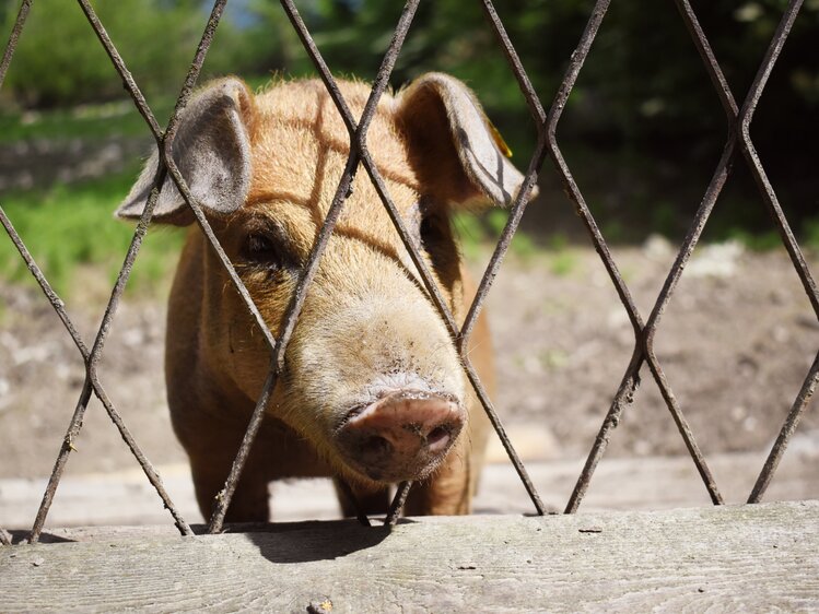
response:
<svg viewBox="0 0 819 614"><path fill-rule="evenodd" d="M819 501L0 548L3 612L819 609Z"/></svg>

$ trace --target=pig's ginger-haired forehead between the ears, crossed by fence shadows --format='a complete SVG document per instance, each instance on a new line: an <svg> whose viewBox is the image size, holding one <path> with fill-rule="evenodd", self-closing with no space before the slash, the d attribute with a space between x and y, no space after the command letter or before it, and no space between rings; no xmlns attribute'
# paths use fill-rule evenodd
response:
<svg viewBox="0 0 819 614"><path fill-rule="evenodd" d="M343 83L341 92L353 117L360 118L370 86ZM309 210L317 223L327 214L348 163L347 127L324 85L317 81L281 83L256 97L251 129L253 178L248 203L288 201ZM406 220L417 217L420 187L395 122L394 99L385 94L367 131L367 149L386 188ZM362 167L353 181L339 226L374 234L391 223Z"/></svg>

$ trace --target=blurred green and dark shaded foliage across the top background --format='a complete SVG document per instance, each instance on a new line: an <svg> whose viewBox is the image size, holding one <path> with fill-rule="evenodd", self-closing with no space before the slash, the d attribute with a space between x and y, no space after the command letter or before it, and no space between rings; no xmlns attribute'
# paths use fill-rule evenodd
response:
<svg viewBox="0 0 819 614"><path fill-rule="evenodd" d="M10 32L17 4L0 0L2 32ZM93 4L149 103L164 120L211 3L96 0ZM375 75L402 4L384 0L296 2L334 72L362 79ZM692 4L741 104L786 1L695 0ZM496 2L496 10L548 108L593 2L504 0ZM679 239L725 143L725 114L676 13L670 1L612 2L559 127L570 167L612 241L641 241L651 233ZM783 206L809 243L819 241L815 236L819 235L817 40L819 0L806 0L751 127ZM421 2L391 83L400 87L432 70L455 74L478 93L515 152L514 162L525 168L535 147L534 122L480 2ZM225 73L239 74L254 85L265 83L271 73L313 73L278 2L229 2L202 80ZM89 139L148 134L136 113L115 117L86 113L81 114L84 123L78 123L78 114L67 111L78 105L104 108L122 98L122 85L77 3L36 0L0 93L0 143L49 135L78 138L78 133ZM126 170L120 179L122 192L132 178L132 168ZM104 180L101 192L112 192L110 181ZM553 245L555 233L583 237L549 161L540 182L543 196L524 219L529 235L526 245L533 240ZM81 188L93 192L94 181L90 185L85 181ZM39 185L34 192L54 189ZM60 189L65 191L65 187ZM44 200L42 194L31 201L16 192L12 196L21 210L36 206L36 202ZM106 201L106 206L110 211L114 205ZM498 215L482 226L485 232L494 232ZM472 233L481 232L470 227ZM765 247L776 244L771 227L750 175L738 162L706 238L738 237L753 247ZM129 235L127 228L125 235Z"/></svg>

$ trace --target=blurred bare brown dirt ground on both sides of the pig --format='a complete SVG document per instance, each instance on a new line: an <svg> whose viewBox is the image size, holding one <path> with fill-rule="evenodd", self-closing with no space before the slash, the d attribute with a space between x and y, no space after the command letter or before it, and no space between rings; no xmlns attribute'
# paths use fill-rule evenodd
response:
<svg viewBox="0 0 819 614"><path fill-rule="evenodd" d="M647 317L675 247L651 237L643 246L612 251ZM473 264L476 271L480 267ZM68 302L68 310L91 344L105 292L89 275L81 286L97 299L78 297ZM536 457L583 458L634 347L599 258L588 248L571 247L527 258L513 255L488 309L501 416L511 429L539 434ZM163 336L162 304L124 300L100 369L114 405L155 464L185 461L165 406ZM704 453L759 451L770 447L816 357L819 324L784 250L757 253L713 245L694 253L663 317L656 346ZM0 285L0 477L47 475L84 371L79 352L36 290ZM817 429L819 412L809 406L799 430ZM74 446L68 475L136 464L96 400ZM685 453L646 367L608 453Z"/></svg>

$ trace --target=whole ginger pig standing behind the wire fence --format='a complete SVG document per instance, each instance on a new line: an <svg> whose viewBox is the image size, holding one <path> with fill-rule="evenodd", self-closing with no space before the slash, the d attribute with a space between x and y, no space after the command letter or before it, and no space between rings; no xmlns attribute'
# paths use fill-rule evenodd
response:
<svg viewBox="0 0 819 614"><path fill-rule="evenodd" d="M360 117L371 86L339 81ZM468 87L429 73L385 93L367 149L457 322L473 288L452 213L510 204L523 176ZM182 111L173 157L270 332L282 324L338 188L348 130L318 80L253 93L211 82ZM117 210L142 214L157 174L148 160ZM153 222L187 226L167 311L165 379L202 515L222 489L270 366L270 351L168 178ZM487 323L468 349L494 386ZM344 515L383 513L390 485L416 482L408 515L470 511L490 433L455 340L423 290L362 170L309 287L227 521L267 521L273 480L330 476ZM338 481L343 481L344 491Z"/></svg>

